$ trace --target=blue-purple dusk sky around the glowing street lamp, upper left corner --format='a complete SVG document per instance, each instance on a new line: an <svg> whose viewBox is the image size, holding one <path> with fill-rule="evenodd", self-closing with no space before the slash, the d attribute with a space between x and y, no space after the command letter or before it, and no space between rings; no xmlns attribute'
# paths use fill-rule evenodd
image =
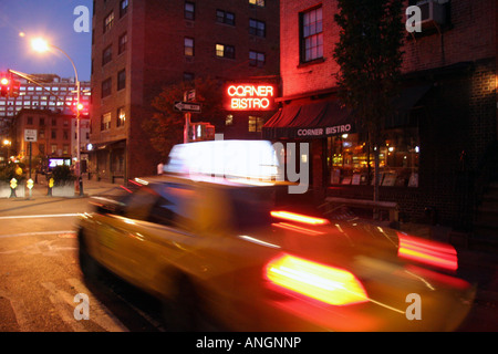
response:
<svg viewBox="0 0 498 354"><path fill-rule="evenodd" d="M80 14L73 12L79 6L89 9L89 32L74 30ZM0 72L11 69L74 77L70 60L61 52L38 53L31 49L30 39L43 37L74 61L80 81L90 81L91 21L92 0L0 0Z"/></svg>

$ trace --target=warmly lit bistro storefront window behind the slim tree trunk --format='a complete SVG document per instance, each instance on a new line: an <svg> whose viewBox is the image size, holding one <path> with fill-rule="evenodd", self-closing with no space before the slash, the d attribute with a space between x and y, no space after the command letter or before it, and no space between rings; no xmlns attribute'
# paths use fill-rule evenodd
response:
<svg viewBox="0 0 498 354"><path fill-rule="evenodd" d="M418 187L417 128L390 129L384 136L384 143L380 147L380 185ZM374 154L361 134L329 137L328 145L331 184L373 185Z"/></svg>

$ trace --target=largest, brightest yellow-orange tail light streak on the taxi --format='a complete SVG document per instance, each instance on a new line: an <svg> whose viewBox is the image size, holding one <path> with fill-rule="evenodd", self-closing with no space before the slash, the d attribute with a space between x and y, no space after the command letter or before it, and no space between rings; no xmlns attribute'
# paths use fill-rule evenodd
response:
<svg viewBox="0 0 498 354"><path fill-rule="evenodd" d="M331 305L351 305L369 301L362 283L353 273L290 254L272 259L264 270L273 288L305 295Z"/></svg>

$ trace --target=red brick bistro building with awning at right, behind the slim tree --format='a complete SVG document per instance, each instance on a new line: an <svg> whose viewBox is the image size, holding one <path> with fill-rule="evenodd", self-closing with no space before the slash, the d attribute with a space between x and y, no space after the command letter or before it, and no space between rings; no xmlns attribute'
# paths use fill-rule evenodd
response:
<svg viewBox="0 0 498 354"><path fill-rule="evenodd" d="M405 4L419 6L423 30L406 32L380 197L396 201L405 220L468 228L496 153L497 2ZM281 110L263 136L310 144L311 187L322 197L371 199L365 136L336 97L336 12L335 1L281 1Z"/></svg>

